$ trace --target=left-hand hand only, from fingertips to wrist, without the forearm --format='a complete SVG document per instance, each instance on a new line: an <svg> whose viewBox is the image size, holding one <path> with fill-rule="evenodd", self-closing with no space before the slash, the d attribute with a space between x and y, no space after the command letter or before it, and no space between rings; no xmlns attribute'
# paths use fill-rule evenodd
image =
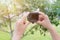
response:
<svg viewBox="0 0 60 40"><path fill-rule="evenodd" d="M28 12L24 13L23 17L16 22L16 26L15 26L14 30L18 34L23 34L26 27L28 26L29 22L26 21L26 17L28 16L28 14L29 14Z"/></svg>

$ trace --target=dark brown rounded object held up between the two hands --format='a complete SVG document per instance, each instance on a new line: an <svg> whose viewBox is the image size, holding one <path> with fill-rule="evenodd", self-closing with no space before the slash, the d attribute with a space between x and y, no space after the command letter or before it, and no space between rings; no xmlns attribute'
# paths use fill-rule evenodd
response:
<svg viewBox="0 0 60 40"><path fill-rule="evenodd" d="M27 20L32 23L37 22L38 18L39 18L38 12L30 12L29 15L27 16Z"/></svg>

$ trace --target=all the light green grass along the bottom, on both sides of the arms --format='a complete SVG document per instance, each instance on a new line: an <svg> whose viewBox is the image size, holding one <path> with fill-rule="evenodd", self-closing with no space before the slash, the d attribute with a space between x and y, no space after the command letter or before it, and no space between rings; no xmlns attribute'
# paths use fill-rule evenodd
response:
<svg viewBox="0 0 60 40"><path fill-rule="evenodd" d="M60 27L56 28L60 33ZM10 40L10 35L8 33L0 31L0 40ZM49 32L46 33L46 36L43 36L39 33L39 31L35 31L34 34L28 34L23 37L22 40L52 40Z"/></svg>

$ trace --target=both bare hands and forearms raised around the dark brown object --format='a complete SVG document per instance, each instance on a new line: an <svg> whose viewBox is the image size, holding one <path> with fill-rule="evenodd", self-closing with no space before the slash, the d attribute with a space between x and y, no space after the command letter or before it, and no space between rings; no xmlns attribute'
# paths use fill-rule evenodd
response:
<svg viewBox="0 0 60 40"><path fill-rule="evenodd" d="M48 16L42 12L39 12L39 13L40 13L39 20L36 23L47 28L49 30L53 40L60 40L60 36L56 32L56 29L52 26ZM23 36L23 33L29 24L29 22L25 20L28 14L29 13L26 13L26 15L23 15L23 17L16 22L12 40L21 40L21 37Z"/></svg>

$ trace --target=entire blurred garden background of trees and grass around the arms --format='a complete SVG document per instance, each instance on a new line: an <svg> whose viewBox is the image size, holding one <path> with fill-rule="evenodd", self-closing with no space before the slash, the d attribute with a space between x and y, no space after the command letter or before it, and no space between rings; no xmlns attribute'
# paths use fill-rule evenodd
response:
<svg viewBox="0 0 60 40"><path fill-rule="evenodd" d="M60 34L60 0L0 0L0 40L11 40L15 22L20 18L20 14L36 9L49 16ZM38 24L30 24L22 40L52 40L52 38L47 29Z"/></svg>

